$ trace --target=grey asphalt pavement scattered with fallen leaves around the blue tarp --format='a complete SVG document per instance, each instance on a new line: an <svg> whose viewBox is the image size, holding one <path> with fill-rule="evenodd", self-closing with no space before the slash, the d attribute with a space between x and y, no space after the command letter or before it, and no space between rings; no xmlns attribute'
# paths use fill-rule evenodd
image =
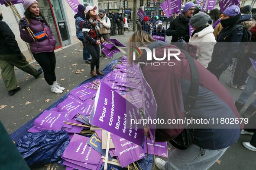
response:
<svg viewBox="0 0 256 170"><path fill-rule="evenodd" d="M127 46L128 38L132 35L132 31L125 35L111 36L119 40ZM171 38L167 37L167 42ZM127 52L127 48L123 48ZM116 59L117 56L122 55L120 52L115 54L112 59L100 58L100 69L104 69L108 63ZM126 54L124 54L126 55ZM32 66L39 69L37 63L32 63ZM80 74L76 74L77 70L84 69ZM68 91L71 91L78 84L86 79L91 78L90 65L85 64L82 56L82 43L73 44L63 50L56 52L56 76L57 81L66 88L62 94L55 94L50 91L49 85L45 82L41 75L39 79L34 79L33 76L27 75L25 72L16 69L16 78L21 90L14 96L9 96L6 88L3 85L3 79L0 78L0 106L6 105L0 110L0 120L5 126L8 133L14 132L20 126L31 120L34 116L38 115L42 110L49 107L52 103L64 96ZM238 89L230 88L226 85L228 79L231 77L229 69L223 73L220 82L227 88L236 100L241 93ZM250 98L246 107L253 101L256 95ZM49 99L49 100L48 100ZM241 110L241 113L246 108ZM253 170L256 169L255 152L249 151L242 146L242 142L249 142L250 135L241 135L236 144L232 145L226 153L220 158L220 162L215 163L210 170ZM166 160L166 159L165 159ZM64 170L57 164L51 165L52 167L58 166L57 170ZM35 170L46 170L47 167L36 168ZM157 169L157 168L156 168Z"/></svg>

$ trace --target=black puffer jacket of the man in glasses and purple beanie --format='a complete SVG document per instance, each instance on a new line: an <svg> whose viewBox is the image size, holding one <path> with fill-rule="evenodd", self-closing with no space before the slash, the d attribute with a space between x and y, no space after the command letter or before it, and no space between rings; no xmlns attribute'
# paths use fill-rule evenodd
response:
<svg viewBox="0 0 256 170"><path fill-rule="evenodd" d="M190 18L185 18L183 13L172 20L170 27L166 30L167 36L172 35L172 42L181 38L186 42L189 41L189 20Z"/></svg>

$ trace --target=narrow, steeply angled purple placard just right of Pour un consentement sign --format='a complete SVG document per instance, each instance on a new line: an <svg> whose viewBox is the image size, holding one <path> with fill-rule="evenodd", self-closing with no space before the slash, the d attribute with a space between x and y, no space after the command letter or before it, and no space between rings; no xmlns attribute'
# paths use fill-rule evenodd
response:
<svg viewBox="0 0 256 170"><path fill-rule="evenodd" d="M147 120L155 120L156 119L156 110L157 110L157 104L156 99L154 96L154 93L149 86L148 82L143 76L143 72L140 71L141 76L141 86L142 86L142 104L143 104L143 111L144 111L144 118ZM154 142L155 141L155 132L156 132L156 124L151 123L147 125L149 128L149 135L150 139Z"/></svg>

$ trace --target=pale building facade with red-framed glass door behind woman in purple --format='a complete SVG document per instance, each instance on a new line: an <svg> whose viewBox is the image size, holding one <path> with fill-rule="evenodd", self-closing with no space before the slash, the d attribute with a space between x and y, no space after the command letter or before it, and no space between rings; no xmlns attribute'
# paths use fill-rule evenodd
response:
<svg viewBox="0 0 256 170"><path fill-rule="evenodd" d="M45 16L46 21L52 29L52 33L57 41L56 48L64 47L68 44L73 44L79 41L75 33L74 11L68 5L66 0L37 0L39 9ZM84 6L95 5L97 0L78 0ZM15 5L19 14L24 17L25 9L22 4ZM20 50L23 52L27 60L33 59L29 51L29 44L24 42L19 35L19 18L13 13L10 7L0 6L0 11L3 13L3 21L6 22L18 42Z"/></svg>

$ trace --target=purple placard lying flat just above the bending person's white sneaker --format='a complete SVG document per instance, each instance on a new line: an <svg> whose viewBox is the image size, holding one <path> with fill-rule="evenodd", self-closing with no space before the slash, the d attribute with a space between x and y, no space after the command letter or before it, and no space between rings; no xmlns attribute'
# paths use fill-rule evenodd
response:
<svg viewBox="0 0 256 170"><path fill-rule="evenodd" d="M168 157L167 142L152 142L148 139L148 154L160 157ZM147 153L146 138L144 140L144 152Z"/></svg>

